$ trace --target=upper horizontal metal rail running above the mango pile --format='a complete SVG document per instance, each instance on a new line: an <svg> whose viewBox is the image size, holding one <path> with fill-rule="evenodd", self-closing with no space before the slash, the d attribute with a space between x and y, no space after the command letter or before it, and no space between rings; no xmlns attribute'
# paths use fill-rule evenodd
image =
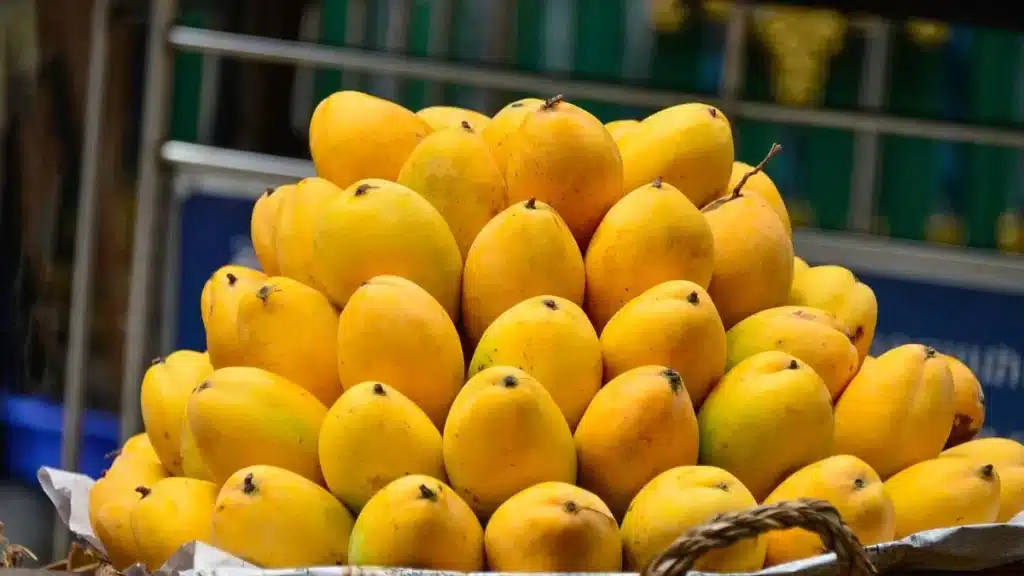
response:
<svg viewBox="0 0 1024 576"><path fill-rule="evenodd" d="M577 98L650 109L665 108L681 101L721 104L719 98L708 95L551 78L425 57L356 48L321 46L308 42L278 40L188 27L171 29L170 43L181 50L266 63L312 65L393 74L407 78L453 82L466 86L511 91L528 90L542 95L562 93ZM898 118L861 112L788 108L754 101L738 101L733 110L736 116L749 120L853 131L874 131L880 134L1024 149L1024 131L1019 130Z"/></svg>

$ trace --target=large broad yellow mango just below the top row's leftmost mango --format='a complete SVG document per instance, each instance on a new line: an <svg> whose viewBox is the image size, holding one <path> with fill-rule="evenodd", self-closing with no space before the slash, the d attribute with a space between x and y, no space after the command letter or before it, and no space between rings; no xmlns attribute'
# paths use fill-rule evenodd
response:
<svg viewBox="0 0 1024 576"><path fill-rule="evenodd" d="M462 256L444 217L425 198L387 180L359 180L329 203L313 244L313 277L342 308L375 276L415 282L459 318Z"/></svg>

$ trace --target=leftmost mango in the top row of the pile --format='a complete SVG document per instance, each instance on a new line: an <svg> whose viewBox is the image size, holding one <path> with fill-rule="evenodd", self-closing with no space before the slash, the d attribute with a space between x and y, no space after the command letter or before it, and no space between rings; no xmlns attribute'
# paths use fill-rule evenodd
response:
<svg viewBox="0 0 1024 576"><path fill-rule="evenodd" d="M409 153L433 129L401 106L355 90L324 98L309 119L309 152L322 178L347 188L393 180Z"/></svg>

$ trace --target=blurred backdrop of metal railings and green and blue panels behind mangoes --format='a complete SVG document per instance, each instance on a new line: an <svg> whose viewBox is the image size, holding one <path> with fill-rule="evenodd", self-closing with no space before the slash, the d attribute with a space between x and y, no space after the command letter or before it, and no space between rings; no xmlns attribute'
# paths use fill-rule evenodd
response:
<svg viewBox="0 0 1024 576"><path fill-rule="evenodd" d="M252 203L311 174L339 89L486 114L564 93L602 121L719 106L737 160L783 146L798 255L874 289L873 349L959 357L987 431L1024 440L1024 35L983 2L878 4L0 0L8 537L52 557L37 468L98 475L148 360L205 348L203 283L256 265Z"/></svg>

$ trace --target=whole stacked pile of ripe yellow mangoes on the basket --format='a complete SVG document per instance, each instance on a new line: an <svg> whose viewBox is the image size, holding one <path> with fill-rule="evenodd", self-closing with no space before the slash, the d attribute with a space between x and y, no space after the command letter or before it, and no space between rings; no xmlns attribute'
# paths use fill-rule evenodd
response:
<svg viewBox="0 0 1024 576"><path fill-rule="evenodd" d="M642 570L688 528L820 498L863 544L1005 522L1024 446L978 379L868 356L871 289L794 254L765 168L706 104L602 124L326 98L318 174L252 213L207 349L157 359L145 431L92 489L114 566L199 540L265 568ZM822 552L801 529L705 556Z"/></svg>

